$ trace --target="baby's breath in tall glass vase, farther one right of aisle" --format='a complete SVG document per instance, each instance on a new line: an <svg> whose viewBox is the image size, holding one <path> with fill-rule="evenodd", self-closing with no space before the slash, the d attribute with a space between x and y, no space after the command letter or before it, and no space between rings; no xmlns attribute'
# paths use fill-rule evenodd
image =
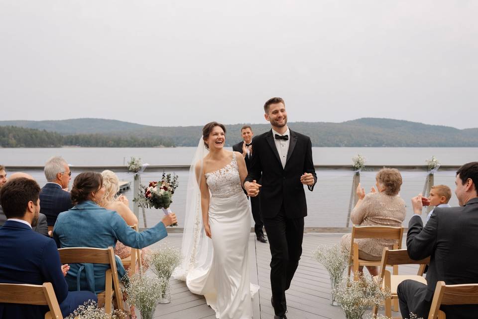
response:
<svg viewBox="0 0 478 319"><path fill-rule="evenodd" d="M333 246L319 245L312 253L314 258L327 269L332 286L332 305L337 306L335 291L338 284L342 282L344 271L349 266L349 252L340 244Z"/></svg>

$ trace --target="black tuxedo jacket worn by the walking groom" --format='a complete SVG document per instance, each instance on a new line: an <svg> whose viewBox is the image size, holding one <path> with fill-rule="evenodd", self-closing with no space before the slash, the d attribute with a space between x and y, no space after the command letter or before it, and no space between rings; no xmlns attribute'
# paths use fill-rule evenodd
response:
<svg viewBox="0 0 478 319"><path fill-rule="evenodd" d="M289 132L285 168L282 168L272 130L252 139L252 158L245 181L259 180L262 177L259 198L260 213L264 218L274 218L282 205L288 218L307 216L304 185L300 182L300 176L312 173L314 185L317 182L310 138L290 129ZM314 186L309 186L310 190L313 188Z"/></svg>

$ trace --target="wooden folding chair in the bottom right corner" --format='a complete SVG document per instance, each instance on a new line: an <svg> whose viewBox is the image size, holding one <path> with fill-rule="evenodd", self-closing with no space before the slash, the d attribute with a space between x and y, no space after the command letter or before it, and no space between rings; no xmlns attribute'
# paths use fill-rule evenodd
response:
<svg viewBox="0 0 478 319"><path fill-rule="evenodd" d="M445 285L437 282L428 319L446 319L441 305L478 305L478 284Z"/></svg>

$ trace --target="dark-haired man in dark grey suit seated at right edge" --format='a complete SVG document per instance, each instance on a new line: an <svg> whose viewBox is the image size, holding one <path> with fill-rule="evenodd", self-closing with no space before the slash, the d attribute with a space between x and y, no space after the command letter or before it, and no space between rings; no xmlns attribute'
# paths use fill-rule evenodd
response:
<svg viewBox="0 0 478 319"><path fill-rule="evenodd" d="M457 171L455 194L461 207L437 207L423 227L422 196L412 199L414 215L408 223L407 251L410 258L431 256L427 285L405 280L397 294L403 318L410 314L428 318L438 281L447 285L478 283L478 162ZM447 319L475 319L478 305L442 306Z"/></svg>

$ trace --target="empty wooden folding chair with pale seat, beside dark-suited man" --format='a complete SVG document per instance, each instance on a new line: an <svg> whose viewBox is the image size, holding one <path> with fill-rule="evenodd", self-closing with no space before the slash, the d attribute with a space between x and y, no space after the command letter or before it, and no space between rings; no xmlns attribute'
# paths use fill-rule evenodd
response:
<svg viewBox="0 0 478 319"><path fill-rule="evenodd" d="M397 287L398 285L407 279L416 280L423 284L427 284L427 280L423 277L426 265L430 263L430 257L413 260L408 256L406 249L399 250L388 250L388 247L383 248L382 261L380 266L380 274L378 280L382 283L383 289L388 289L390 291L391 298L385 300L385 316L392 318L392 301L394 302L394 310L398 311L398 296L397 296ZM391 275L390 271L386 270L387 266L398 266L398 265L417 265L418 272L416 275ZM377 315L378 307L375 307L375 316ZM401 317L398 317L401 318Z"/></svg>

